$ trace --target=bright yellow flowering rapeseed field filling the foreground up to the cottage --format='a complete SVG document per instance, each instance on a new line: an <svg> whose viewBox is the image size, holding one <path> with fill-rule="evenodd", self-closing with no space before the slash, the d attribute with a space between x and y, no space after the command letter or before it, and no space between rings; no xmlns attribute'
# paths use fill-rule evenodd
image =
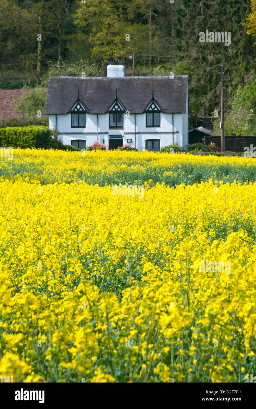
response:
<svg viewBox="0 0 256 409"><path fill-rule="evenodd" d="M213 171L208 181L169 187L152 169L164 175L174 162L202 162L236 172L253 162L86 155L14 150L13 163L0 162L0 375L243 382L256 365L256 182L217 182ZM110 162L118 155L117 169ZM111 186L125 184L129 160L147 176L132 180L143 184L140 197ZM52 182L41 184L36 163ZM62 178L79 169L99 171L102 183ZM111 172L115 183L104 186Z"/></svg>

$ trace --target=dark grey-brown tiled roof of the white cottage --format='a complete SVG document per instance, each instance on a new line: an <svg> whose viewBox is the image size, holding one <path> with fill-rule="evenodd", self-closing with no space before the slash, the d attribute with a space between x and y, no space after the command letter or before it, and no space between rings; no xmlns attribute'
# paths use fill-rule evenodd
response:
<svg viewBox="0 0 256 409"><path fill-rule="evenodd" d="M132 114L142 113L152 98L166 113L185 113L188 76L157 77L50 77L45 113L66 114L79 99L91 114L105 114L116 97Z"/></svg>

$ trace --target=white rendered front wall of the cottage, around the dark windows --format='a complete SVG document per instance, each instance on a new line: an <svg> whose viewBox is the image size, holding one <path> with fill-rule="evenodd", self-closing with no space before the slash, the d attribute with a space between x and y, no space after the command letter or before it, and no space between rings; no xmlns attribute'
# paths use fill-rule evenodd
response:
<svg viewBox="0 0 256 409"><path fill-rule="evenodd" d="M161 113L161 126L154 128L146 127L146 114L136 114L136 143L135 143L135 115L124 114L124 129L109 129L109 114L99 114L99 142L104 143L108 148L108 135L120 135L124 137L124 144L127 144L127 139L132 139L131 146L143 147L146 146L146 139L160 139L160 148L168 146L174 142L178 142L180 146L185 146L189 143L188 129L188 114L173 114L174 132L172 124L172 114ZM67 115L49 115L49 128L53 129L56 126L60 133L59 139L64 144L70 145L73 139L84 139L86 146L97 141L97 115L86 114L85 128L71 128L71 114ZM153 133L159 132L159 133ZM174 138L173 138L174 136Z"/></svg>

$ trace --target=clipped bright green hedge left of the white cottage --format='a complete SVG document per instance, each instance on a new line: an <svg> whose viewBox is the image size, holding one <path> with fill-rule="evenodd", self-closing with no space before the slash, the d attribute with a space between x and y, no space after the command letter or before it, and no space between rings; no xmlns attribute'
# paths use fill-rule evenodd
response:
<svg viewBox="0 0 256 409"><path fill-rule="evenodd" d="M0 128L0 145L13 148L52 148L53 139L48 126L13 126Z"/></svg>

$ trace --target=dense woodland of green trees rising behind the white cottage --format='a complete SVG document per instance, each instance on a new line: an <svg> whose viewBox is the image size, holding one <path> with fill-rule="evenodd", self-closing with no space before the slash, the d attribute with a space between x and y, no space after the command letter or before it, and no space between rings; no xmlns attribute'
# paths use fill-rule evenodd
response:
<svg viewBox="0 0 256 409"><path fill-rule="evenodd" d="M82 70L106 76L110 58L132 75L135 53L135 76L189 76L195 126L197 117L220 111L223 60L225 115L233 121L233 101L249 84L252 99L238 109L252 125L255 10L255 0L0 0L0 88L46 87L49 75ZM205 30L230 32L230 45L200 43Z"/></svg>

